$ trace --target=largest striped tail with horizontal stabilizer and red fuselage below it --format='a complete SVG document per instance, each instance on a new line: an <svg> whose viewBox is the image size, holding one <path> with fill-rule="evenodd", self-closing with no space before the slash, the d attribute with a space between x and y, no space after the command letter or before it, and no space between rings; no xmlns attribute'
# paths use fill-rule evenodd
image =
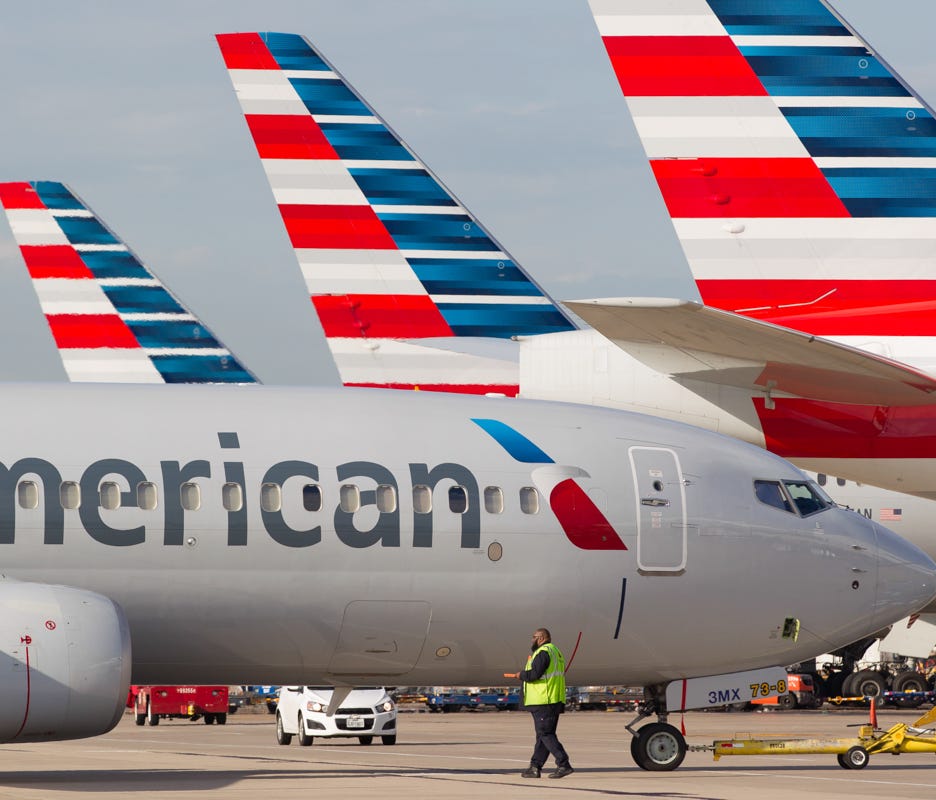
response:
<svg viewBox="0 0 936 800"><path fill-rule="evenodd" d="M707 304L604 332L799 466L936 498L930 107L820 0L590 1Z"/></svg>

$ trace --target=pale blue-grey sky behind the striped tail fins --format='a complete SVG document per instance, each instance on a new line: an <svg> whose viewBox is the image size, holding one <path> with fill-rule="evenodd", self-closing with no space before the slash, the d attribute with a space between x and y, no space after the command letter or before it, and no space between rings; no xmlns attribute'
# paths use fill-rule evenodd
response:
<svg viewBox="0 0 936 800"><path fill-rule="evenodd" d="M936 102L932 0L836 8ZM70 184L265 382L332 383L218 32L301 33L559 300L696 297L585 0L4 7L0 180ZM7 379L64 373L0 223Z"/></svg>

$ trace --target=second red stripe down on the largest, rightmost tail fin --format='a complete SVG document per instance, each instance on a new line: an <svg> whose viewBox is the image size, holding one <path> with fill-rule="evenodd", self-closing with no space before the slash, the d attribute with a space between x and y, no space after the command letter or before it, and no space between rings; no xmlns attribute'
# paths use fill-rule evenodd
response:
<svg viewBox="0 0 936 800"><path fill-rule="evenodd" d="M848 217L811 158L650 161L670 216Z"/></svg>

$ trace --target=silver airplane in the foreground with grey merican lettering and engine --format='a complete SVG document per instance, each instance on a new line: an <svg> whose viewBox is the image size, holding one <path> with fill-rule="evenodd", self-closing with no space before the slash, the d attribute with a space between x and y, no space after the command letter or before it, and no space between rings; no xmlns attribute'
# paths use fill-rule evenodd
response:
<svg viewBox="0 0 936 800"><path fill-rule="evenodd" d="M131 674L496 683L548 619L570 679L647 687L632 752L671 769L668 713L765 674L782 694L773 665L936 595L936 563L795 467L667 420L345 387L3 396L2 741L109 730Z"/></svg>

